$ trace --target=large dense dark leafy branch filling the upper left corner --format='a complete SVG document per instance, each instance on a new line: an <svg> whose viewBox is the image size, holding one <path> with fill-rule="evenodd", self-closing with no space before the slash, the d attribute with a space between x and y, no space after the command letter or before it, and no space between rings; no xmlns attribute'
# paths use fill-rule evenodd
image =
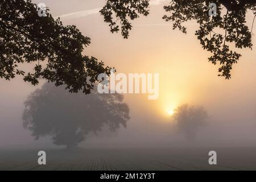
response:
<svg viewBox="0 0 256 182"><path fill-rule="evenodd" d="M39 78L66 85L70 92L90 93L100 73L110 73L102 61L82 55L90 39L76 26L63 26L60 19L38 15L30 0L0 2L0 77L16 75L36 85ZM18 69L22 63L34 63L34 71Z"/></svg>

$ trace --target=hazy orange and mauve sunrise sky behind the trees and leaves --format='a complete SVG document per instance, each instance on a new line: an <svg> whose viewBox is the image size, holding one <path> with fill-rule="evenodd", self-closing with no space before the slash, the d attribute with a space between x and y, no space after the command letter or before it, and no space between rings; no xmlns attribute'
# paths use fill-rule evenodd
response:
<svg viewBox="0 0 256 182"><path fill-rule="evenodd" d="M32 1L40 3L40 1ZM232 70L232 79L218 77L218 66L208 63L209 53L201 48L195 36L198 25L187 22L187 34L172 30L164 22L165 0L151 1L150 15L134 20L129 39L112 34L98 13L103 0L44 0L53 17L65 25L75 24L91 39L84 54L97 57L117 73L159 73L159 99L147 100L147 94L125 94L131 119L127 129L111 139L88 139L90 146L158 146L164 142L182 142L176 135L175 123L168 115L181 104L203 105L210 115L209 125L199 133L199 143L256 144L256 51L238 50L242 57ZM253 15L248 13L251 27ZM253 32L256 34L256 26ZM253 36L256 45L256 37ZM24 65L29 69L30 65ZM0 147L37 146L22 127L23 102L28 94L43 84L32 86L21 77L0 80Z"/></svg>

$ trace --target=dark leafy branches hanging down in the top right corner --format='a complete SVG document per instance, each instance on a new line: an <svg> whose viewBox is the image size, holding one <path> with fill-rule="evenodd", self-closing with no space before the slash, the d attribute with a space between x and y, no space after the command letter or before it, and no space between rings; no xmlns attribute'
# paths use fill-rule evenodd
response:
<svg viewBox="0 0 256 182"><path fill-rule="evenodd" d="M217 16L209 17L209 4L216 3ZM228 6L228 5L226 5ZM228 6L229 7L229 6ZM240 54L232 51L228 43L234 43L236 48L252 48L251 32L246 26L246 11L251 9L255 11L255 5L245 5L241 9L226 9L226 14L222 16L221 3L218 0L196 0L196 1L179 1L173 0L171 5L164 6L164 10L171 15L164 15L163 19L167 22L174 22L173 28L179 28L186 33L186 28L181 23L188 20L196 20L199 23L199 30L196 31L197 38L204 49L213 55L209 57L209 61L220 64L218 69L220 75L226 79L231 77L230 71L233 64L237 63ZM214 32L214 29L224 30L224 35Z"/></svg>

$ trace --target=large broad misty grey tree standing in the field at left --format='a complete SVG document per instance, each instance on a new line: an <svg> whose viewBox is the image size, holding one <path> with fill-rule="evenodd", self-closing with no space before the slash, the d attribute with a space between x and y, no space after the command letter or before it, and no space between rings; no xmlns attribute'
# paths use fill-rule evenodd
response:
<svg viewBox="0 0 256 182"><path fill-rule="evenodd" d="M24 103L24 128L32 131L35 139L51 136L56 145L73 148L89 132L97 133L102 127L115 131L126 127L129 107L121 94L89 95L69 93L54 84L44 84Z"/></svg>

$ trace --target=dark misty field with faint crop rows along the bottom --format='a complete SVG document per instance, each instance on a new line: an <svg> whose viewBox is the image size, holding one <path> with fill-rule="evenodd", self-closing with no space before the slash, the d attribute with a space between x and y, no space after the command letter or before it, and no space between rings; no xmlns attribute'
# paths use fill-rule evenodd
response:
<svg viewBox="0 0 256 182"><path fill-rule="evenodd" d="M256 148L218 148L217 165L209 165L210 148L1 150L0 170L256 170Z"/></svg>

